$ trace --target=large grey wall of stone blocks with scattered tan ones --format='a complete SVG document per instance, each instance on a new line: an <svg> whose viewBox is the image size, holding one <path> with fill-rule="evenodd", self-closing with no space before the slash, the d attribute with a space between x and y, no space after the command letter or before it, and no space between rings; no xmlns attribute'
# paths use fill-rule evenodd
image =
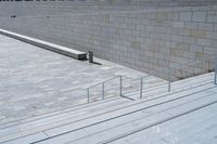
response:
<svg viewBox="0 0 217 144"><path fill-rule="evenodd" d="M94 4L86 5L85 10L78 6L77 11L63 11L72 5L47 3L30 13L28 9L18 9L16 18L9 17L12 11L1 13L0 27L66 47L79 44L99 57L162 78L168 78L168 68L178 67L170 73L173 79L179 79L214 69L217 4L201 6L204 1L196 2L196 6L175 8L145 3L137 5L138 10L130 4L126 8L104 4L94 11ZM201 63L184 66L194 61Z"/></svg>

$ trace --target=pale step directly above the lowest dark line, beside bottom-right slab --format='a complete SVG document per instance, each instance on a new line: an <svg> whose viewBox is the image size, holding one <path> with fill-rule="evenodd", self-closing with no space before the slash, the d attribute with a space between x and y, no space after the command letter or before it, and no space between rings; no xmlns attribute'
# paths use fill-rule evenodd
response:
<svg viewBox="0 0 217 144"><path fill-rule="evenodd" d="M201 94L204 95L205 93L206 92ZM157 126L159 123L176 119L177 117L188 115L192 113L194 109L203 108L204 105L209 105L213 104L214 102L217 103L216 94L210 94L206 99L194 101L192 103L187 103L186 105L173 107L166 112L158 113L155 116L145 117L143 119L138 119L128 123L123 123L119 125L118 127L114 127L113 129L108 129L92 135L90 134L89 136L86 136L84 139L71 141L67 143L68 144L85 144L87 142L93 144L110 143L115 140L122 139L125 135L133 134L137 131L142 131L150 127Z"/></svg>

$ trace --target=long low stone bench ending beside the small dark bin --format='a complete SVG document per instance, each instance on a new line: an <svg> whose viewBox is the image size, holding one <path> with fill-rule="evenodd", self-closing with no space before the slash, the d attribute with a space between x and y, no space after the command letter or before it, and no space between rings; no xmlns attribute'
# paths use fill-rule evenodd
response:
<svg viewBox="0 0 217 144"><path fill-rule="evenodd" d="M37 45L37 47L40 47L40 48L43 48L43 49L47 49L47 50L50 50L50 51L53 51L53 52L56 52L56 53L60 53L60 54L63 54L63 55L66 55L66 56L69 56L69 57L73 57L73 58L76 58L76 60L86 60L87 58L86 52L81 52L81 51L74 50L71 48L58 45L58 44L54 44L51 42L47 42L47 41L31 38L28 36L20 35L16 32L8 31L4 29L0 29L0 34L2 34L4 36L9 36L11 38L15 38L17 40L21 40L21 41L24 41L24 42L27 42L30 44L34 44L34 45Z"/></svg>

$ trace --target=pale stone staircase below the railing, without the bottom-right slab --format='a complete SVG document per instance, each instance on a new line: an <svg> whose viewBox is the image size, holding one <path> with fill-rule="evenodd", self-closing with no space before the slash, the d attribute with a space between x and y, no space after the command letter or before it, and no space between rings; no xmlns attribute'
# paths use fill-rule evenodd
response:
<svg viewBox="0 0 217 144"><path fill-rule="evenodd" d="M3 144L126 143L125 138L217 103L214 74L144 89L143 99L105 101L0 123ZM139 92L128 94L138 97ZM204 114L204 113L203 113ZM205 115L205 114L204 114ZM208 118L208 117L207 117Z"/></svg>

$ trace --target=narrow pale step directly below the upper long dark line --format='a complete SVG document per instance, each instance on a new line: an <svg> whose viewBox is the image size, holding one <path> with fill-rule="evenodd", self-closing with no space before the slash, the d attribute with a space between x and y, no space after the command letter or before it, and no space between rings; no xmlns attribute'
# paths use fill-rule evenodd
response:
<svg viewBox="0 0 217 144"><path fill-rule="evenodd" d="M150 117L150 116L154 116L154 115L157 115L158 113L163 113L175 106L180 106L180 105L186 105L188 103L192 103L192 102L195 102L195 101L199 101L200 99L206 99L208 97L208 95L210 93L207 93L207 94L203 94L204 92L201 92L201 93L196 93L196 94L192 94L192 95L189 95L187 97L183 97L183 99L179 99L177 101L174 101L171 103L165 103L165 104L162 104L162 105L158 105L158 106L155 106L155 107L150 107L150 108L146 108L144 110L141 110L141 112L137 112L137 109L135 108L135 113L130 114L130 115L126 115L126 116L123 116L123 117L118 117L116 119L112 119L110 121L105 121L105 122L102 122L102 123L99 123L97 126L91 126L91 127L88 127L88 128L85 128L85 129L81 129L81 130L78 130L82 132L87 132L86 135L80 135L80 138L77 135L74 140L76 139L81 139L81 138L86 138L88 135L91 135L91 134L94 134L94 133L100 133L100 132L103 132L103 131L106 131L106 130L110 130L110 129L113 129L115 127L119 127L124 123L127 123L127 122L131 122L131 121L135 121L135 120L138 120L138 119L141 119L141 118L145 118L145 117ZM168 113L168 115L170 115ZM44 141L44 142L41 142L41 143L49 143L49 144L58 144L58 143L65 143L67 142L67 140L71 138L71 141L73 140L72 139L72 135L74 135L74 133L78 133L78 131L75 131L75 132L72 132L72 133L67 133L67 134L64 134L64 135L60 135L60 136L56 136L56 138L53 138L51 140L48 140L48 141ZM51 131L46 131L47 134L49 134ZM66 139L68 138L68 139Z"/></svg>

